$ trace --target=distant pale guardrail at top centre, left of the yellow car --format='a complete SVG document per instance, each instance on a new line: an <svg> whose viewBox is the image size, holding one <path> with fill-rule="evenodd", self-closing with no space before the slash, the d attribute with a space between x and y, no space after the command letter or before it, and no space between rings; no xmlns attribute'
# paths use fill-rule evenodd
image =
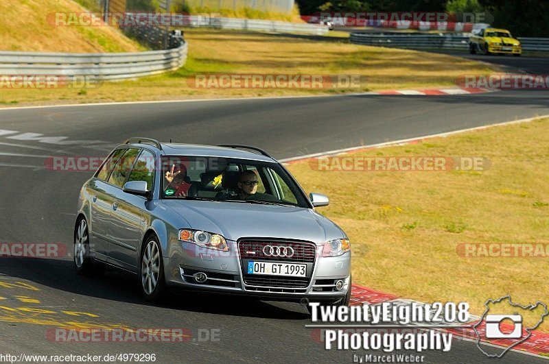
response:
<svg viewBox="0 0 549 364"><path fill-rule="evenodd" d="M257 19L218 18L210 16L184 16L184 26L214 27L219 29L260 30L265 32L299 32L322 35L329 32L326 25L267 21Z"/></svg>

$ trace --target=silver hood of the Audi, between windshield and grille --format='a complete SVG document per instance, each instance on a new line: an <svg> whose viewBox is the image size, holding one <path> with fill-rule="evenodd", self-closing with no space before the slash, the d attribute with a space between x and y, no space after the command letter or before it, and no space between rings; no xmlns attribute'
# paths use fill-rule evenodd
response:
<svg viewBox="0 0 549 364"><path fill-rule="evenodd" d="M221 234L233 241L253 237L321 244L347 237L335 223L309 208L176 199L165 199L164 203L191 229Z"/></svg>

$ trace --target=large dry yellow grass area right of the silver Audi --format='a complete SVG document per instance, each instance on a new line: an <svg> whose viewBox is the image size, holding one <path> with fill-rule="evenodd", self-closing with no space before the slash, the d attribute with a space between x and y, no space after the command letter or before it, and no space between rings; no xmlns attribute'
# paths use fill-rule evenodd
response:
<svg viewBox="0 0 549 364"><path fill-rule="evenodd" d="M310 161L289 169L305 191L330 197L318 211L349 234L355 283L421 302L467 301L482 315L487 299L508 293L523 305L549 302L547 135L543 119L347 155L487 158L480 171L318 171ZM544 256L466 257L467 243L541 244ZM549 332L549 321L540 328Z"/></svg>

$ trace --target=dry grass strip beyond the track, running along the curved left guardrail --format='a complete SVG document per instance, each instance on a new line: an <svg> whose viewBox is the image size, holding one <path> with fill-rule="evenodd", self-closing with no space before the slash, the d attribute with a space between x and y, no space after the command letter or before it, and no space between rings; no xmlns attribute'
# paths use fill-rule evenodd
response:
<svg viewBox="0 0 549 364"><path fill-rule="evenodd" d="M253 97L331 95L410 88L453 87L464 74L489 74L486 64L435 53L314 41L297 36L219 29L185 29L189 58L183 68L138 80L104 82L95 88L0 89L0 105L85 103ZM327 88L196 88L196 76L358 75L352 87Z"/></svg>

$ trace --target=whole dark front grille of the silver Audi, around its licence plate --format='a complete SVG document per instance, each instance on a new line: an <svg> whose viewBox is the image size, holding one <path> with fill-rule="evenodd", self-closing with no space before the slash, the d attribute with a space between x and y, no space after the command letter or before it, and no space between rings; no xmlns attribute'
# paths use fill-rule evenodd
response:
<svg viewBox="0 0 549 364"><path fill-rule="evenodd" d="M266 246L272 247L292 247L294 254L287 256L269 256L264 253ZM296 242L296 241L258 241L243 240L238 243L240 253L240 262L244 283L253 287L272 287L279 289L303 289L309 286L312 277L312 271L316 258L316 245L314 243ZM262 274L247 274L247 262L249 260L261 260L266 262L288 262L305 263L307 265L307 276L268 276ZM255 288L247 287L254 290ZM297 292L297 291L296 291Z"/></svg>

